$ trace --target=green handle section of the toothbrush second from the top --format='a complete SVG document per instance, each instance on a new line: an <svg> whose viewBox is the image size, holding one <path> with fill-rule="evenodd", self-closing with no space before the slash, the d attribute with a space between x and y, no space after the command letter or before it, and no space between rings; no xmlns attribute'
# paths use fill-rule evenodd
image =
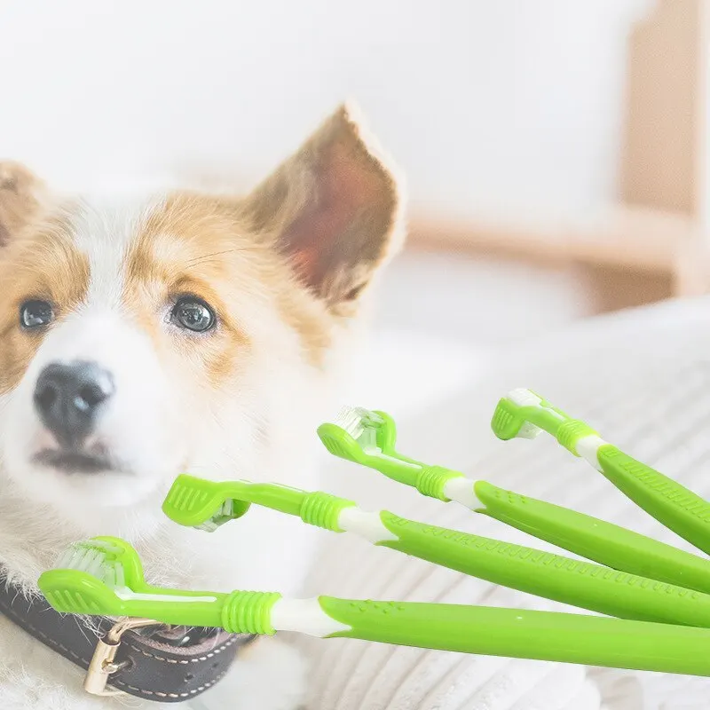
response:
<svg viewBox="0 0 710 710"><path fill-rule="evenodd" d="M562 506L506 491L486 481L474 485L494 517L540 540L616 570L710 594L710 561L619 525Z"/></svg>

